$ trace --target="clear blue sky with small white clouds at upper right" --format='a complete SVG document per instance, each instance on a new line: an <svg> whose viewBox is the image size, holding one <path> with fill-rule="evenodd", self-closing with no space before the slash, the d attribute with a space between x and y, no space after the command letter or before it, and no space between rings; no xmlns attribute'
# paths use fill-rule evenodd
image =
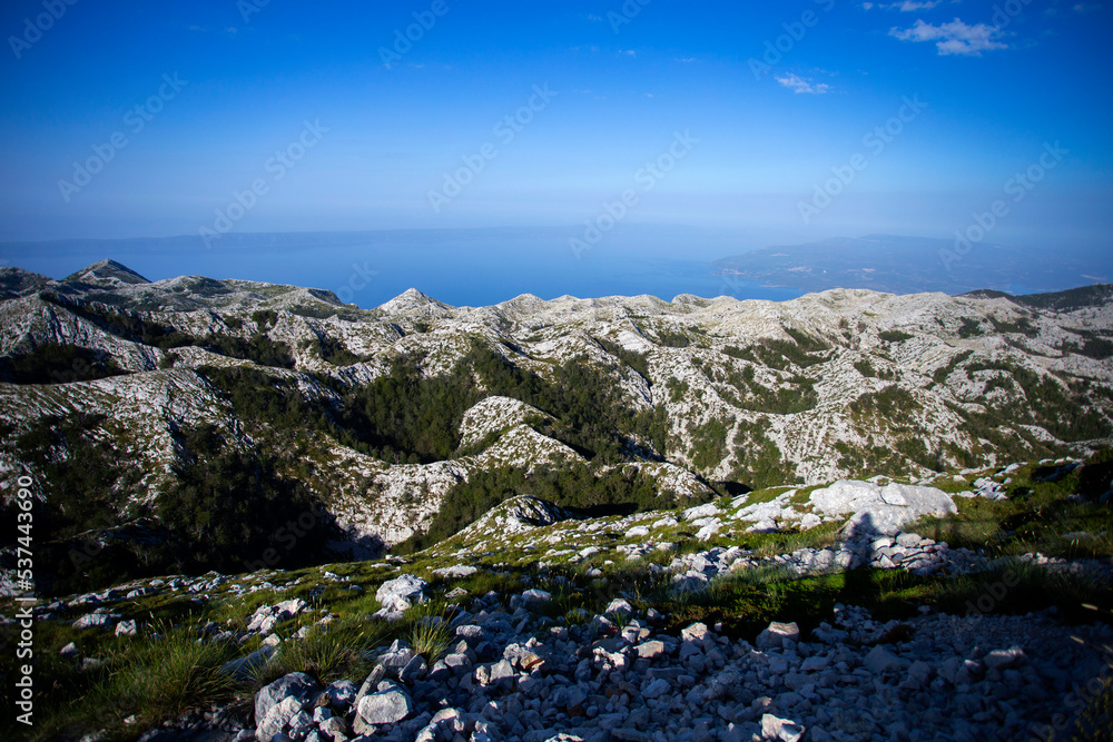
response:
<svg viewBox="0 0 1113 742"><path fill-rule="evenodd" d="M1094 247L1113 226L1104 2L51 1L40 34L41 0L0 11L0 240L197 234L256 179L236 231L582 225L633 189L631 222L948 237L1054 142L1068 152L994 239ZM396 48L415 12L435 22ZM767 43L784 51L755 71ZM906 98L927 106L867 145ZM116 132L87 185L59 185ZM272 159L299 138L292 167ZM484 145L496 157L434 209ZM641 170L670 147L671 171Z"/></svg>

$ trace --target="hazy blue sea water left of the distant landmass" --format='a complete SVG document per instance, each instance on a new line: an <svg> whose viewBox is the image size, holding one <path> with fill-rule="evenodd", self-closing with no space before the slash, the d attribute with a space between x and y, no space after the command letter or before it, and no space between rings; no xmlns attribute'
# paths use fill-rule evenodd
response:
<svg viewBox="0 0 1113 742"><path fill-rule="evenodd" d="M328 289L363 308L407 288L455 306L484 306L534 294L545 299L678 294L790 299L715 275L710 261L737 253L727 236L644 226L615 230L579 256L574 228L400 230L234 235L211 247L198 238L70 240L0 245L0 260L53 278L111 258L151 280L180 275L243 278Z"/></svg>

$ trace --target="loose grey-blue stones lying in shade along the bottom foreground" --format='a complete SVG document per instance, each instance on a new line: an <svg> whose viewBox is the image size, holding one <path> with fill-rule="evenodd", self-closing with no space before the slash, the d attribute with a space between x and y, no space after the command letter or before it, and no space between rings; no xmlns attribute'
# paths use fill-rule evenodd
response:
<svg viewBox="0 0 1113 742"><path fill-rule="evenodd" d="M425 588L403 575L377 597L397 609ZM456 609L432 665L396 641L365 679L323 687L292 673L255 695L250 718L209 713L144 740L1047 739L1109 673L1113 639L1047 612L879 623L838 605L811 632L771 623L750 643L703 623L662 633L661 614L623 600L562 625L541 615L549 600L490 593ZM304 609L264 606L257 623Z"/></svg>

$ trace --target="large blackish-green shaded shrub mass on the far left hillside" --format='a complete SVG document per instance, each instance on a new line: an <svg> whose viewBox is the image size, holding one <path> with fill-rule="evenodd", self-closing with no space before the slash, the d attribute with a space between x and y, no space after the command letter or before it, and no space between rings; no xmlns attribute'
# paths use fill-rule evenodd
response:
<svg viewBox="0 0 1113 742"><path fill-rule="evenodd" d="M308 564L335 536L306 486L278 474L282 462L237 451L208 425L175 433L185 462L152 506L136 505L146 494L142 472L120 456L106 422L101 415L45 417L17 436L20 456L42 473L35 523L50 534L36 554L45 592L168 572L242 572L268 548L276 555L268 566ZM313 527L304 528L311 520ZM16 523L13 514L8 522ZM13 536L6 531L2 543Z"/></svg>

